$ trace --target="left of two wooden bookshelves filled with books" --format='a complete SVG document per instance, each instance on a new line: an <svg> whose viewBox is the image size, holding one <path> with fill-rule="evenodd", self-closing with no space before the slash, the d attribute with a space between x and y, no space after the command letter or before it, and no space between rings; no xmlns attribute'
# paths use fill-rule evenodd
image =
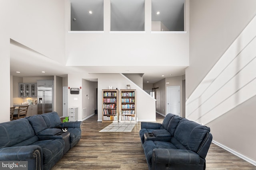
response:
<svg viewBox="0 0 256 170"><path fill-rule="evenodd" d="M118 121L118 90L102 90L102 121Z"/></svg>

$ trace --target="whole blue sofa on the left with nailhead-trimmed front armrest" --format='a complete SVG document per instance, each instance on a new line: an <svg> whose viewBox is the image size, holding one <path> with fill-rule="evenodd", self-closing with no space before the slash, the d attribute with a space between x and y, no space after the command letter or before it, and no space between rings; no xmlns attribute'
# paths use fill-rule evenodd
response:
<svg viewBox="0 0 256 170"><path fill-rule="evenodd" d="M81 121L61 123L56 112L0 123L0 160L26 160L29 170L49 170L78 143L81 126Z"/></svg>

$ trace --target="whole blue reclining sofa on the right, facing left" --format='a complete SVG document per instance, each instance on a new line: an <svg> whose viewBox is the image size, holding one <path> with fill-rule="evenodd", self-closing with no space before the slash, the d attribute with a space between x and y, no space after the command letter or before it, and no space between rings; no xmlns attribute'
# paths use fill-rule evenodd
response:
<svg viewBox="0 0 256 170"><path fill-rule="evenodd" d="M141 124L140 137L149 170L205 170L206 154L212 142L210 128L168 114L166 129L152 129L154 123ZM163 124L167 124L164 119ZM159 126L158 123L155 125ZM142 132L144 133L142 137Z"/></svg>

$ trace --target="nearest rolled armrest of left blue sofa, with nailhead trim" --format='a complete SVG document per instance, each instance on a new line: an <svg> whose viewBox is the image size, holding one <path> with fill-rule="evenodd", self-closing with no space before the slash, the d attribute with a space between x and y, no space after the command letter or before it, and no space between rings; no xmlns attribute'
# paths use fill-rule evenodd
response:
<svg viewBox="0 0 256 170"><path fill-rule="evenodd" d="M0 160L31 160L42 163L42 149L37 145L6 147L0 149ZM38 163L39 163L38 162Z"/></svg>

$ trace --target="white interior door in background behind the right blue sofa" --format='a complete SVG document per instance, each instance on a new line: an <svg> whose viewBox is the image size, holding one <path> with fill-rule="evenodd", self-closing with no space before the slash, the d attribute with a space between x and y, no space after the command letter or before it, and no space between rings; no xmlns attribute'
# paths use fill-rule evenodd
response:
<svg viewBox="0 0 256 170"><path fill-rule="evenodd" d="M167 87L167 114L180 115L180 86Z"/></svg>

